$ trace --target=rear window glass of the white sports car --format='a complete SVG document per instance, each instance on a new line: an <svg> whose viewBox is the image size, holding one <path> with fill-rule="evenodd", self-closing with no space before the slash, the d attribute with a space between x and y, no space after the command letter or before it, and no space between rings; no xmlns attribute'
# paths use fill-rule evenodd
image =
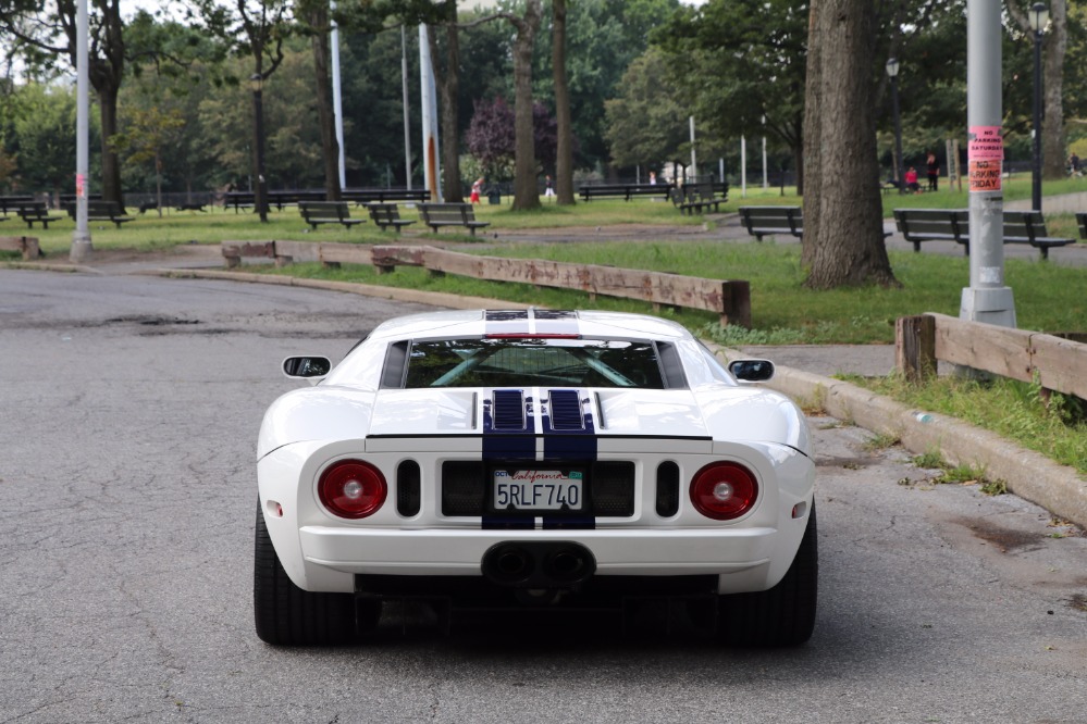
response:
<svg viewBox="0 0 1087 724"><path fill-rule="evenodd" d="M638 387L664 389L658 346L646 340L515 338L413 340L403 387ZM398 355L390 355L386 364ZM395 374L385 370L385 386Z"/></svg>

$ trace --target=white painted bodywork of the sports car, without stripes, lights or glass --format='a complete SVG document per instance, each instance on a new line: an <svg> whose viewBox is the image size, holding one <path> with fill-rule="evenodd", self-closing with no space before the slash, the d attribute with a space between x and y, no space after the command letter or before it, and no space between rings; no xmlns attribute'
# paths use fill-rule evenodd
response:
<svg viewBox="0 0 1087 724"><path fill-rule="evenodd" d="M521 323L523 326L523 323ZM489 437L494 388L382 389L390 341L478 337L498 325L479 311L412 315L381 325L313 387L275 400L258 438L261 510L275 552L291 581L310 591L355 590L356 575L482 576L481 559L497 544L573 541L595 558L597 576L718 576L718 592L765 590L789 569L814 496L815 464L803 413L788 398L740 385L706 359L682 327L655 317L581 312L578 330L590 338L629 336L676 346L685 389L581 388L596 461L634 464L633 513L595 517L588 529L484 526L483 516L443 515L443 463L479 461ZM510 328L516 325L509 325ZM535 458L543 461L551 390L526 387L534 410ZM534 408L532 405L535 405ZM586 436L588 437L588 436ZM505 439L505 438L503 438ZM564 438L572 439L572 438ZM331 463L362 459L388 480L388 499L362 520L333 515L316 482ZM398 465L420 473L419 512L397 512ZM694 508L688 485L704 465L736 461L759 485L754 507L737 520L715 521ZM679 470L674 515L656 510L659 465Z"/></svg>

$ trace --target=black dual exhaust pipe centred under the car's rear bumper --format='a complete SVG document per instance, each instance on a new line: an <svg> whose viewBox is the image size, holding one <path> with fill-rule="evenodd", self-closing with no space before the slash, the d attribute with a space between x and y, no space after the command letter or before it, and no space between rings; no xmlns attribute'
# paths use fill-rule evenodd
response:
<svg viewBox="0 0 1087 724"><path fill-rule="evenodd" d="M596 573L596 559L569 541L501 542L483 554L483 575L512 588L569 588Z"/></svg>

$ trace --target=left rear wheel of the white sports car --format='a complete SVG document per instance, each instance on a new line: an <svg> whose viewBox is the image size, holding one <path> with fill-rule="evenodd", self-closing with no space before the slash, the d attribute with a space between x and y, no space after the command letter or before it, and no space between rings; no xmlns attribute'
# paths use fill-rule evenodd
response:
<svg viewBox="0 0 1087 724"><path fill-rule="evenodd" d="M322 646L356 644L381 617L381 601L356 601L353 594L314 594L287 576L275 554L257 503L252 609L257 636L267 644Z"/></svg>

